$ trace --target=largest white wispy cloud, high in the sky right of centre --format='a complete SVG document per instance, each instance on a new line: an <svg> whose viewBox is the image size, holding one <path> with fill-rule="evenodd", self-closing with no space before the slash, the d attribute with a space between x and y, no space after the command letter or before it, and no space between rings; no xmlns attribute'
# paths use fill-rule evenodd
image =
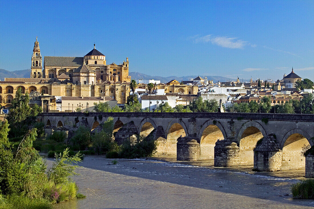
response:
<svg viewBox="0 0 314 209"><path fill-rule="evenodd" d="M221 47L230 48L230 49L243 49L244 46L250 45L251 47L256 47L254 44L250 44L247 41L243 41L241 39L238 39L236 37L227 37L227 36L213 36L213 35L207 35L207 36L192 36L190 37L194 42L204 42L208 43L211 42L212 44L216 44Z"/></svg>

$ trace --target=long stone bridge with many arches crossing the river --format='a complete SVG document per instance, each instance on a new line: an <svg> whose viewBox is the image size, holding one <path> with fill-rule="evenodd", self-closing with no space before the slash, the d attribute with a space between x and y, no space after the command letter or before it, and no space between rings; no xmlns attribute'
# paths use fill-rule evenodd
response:
<svg viewBox="0 0 314 209"><path fill-rule="evenodd" d="M311 114L42 113L38 118L47 133L66 130L71 135L79 125L97 132L109 116L114 118L117 143L143 135L158 140L159 156L214 159L215 166L254 164L265 171L304 168L302 147L313 146Z"/></svg>

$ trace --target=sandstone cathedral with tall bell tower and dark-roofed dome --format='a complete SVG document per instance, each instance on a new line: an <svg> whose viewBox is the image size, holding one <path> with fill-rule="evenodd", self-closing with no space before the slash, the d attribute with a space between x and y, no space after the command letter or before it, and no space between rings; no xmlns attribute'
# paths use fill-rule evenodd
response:
<svg viewBox="0 0 314 209"><path fill-rule="evenodd" d="M35 41L32 56L31 78L66 78L75 85L95 85L109 81L130 82L129 60L122 64L106 64L106 56L95 48L84 57L44 57L44 69L42 69L42 57L39 43Z"/></svg>

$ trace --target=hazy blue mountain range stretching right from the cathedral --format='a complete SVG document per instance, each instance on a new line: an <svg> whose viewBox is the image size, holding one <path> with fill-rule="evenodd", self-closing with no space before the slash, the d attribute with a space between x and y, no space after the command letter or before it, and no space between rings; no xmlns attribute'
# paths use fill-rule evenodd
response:
<svg viewBox="0 0 314 209"><path fill-rule="evenodd" d="M162 76L146 75L146 74L138 73L138 72L129 72L129 75L131 75L131 78L134 80L138 80L142 78L143 80L154 79L154 80L160 80L160 82L162 83L167 83L174 79L181 82L182 80L190 80L191 78L194 79L198 77L198 75L189 75L189 76L181 76L181 77L178 77L178 76L162 77ZM200 77L204 79L205 75L200 75ZM222 76L207 76L207 80L213 80L214 83L216 83L217 81L220 81L220 82L227 82L227 81L233 81L233 80L236 81L236 79L222 77ZM243 81L245 82L249 80L243 80Z"/></svg>

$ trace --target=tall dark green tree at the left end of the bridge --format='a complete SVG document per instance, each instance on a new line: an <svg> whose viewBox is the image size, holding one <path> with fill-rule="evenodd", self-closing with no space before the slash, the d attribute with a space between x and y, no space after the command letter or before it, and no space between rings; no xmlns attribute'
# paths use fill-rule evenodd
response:
<svg viewBox="0 0 314 209"><path fill-rule="evenodd" d="M28 132L28 127L36 122L35 117L42 109L37 104L32 108L29 106L30 97L22 94L21 88L16 91L15 98L7 116L10 124L10 137L23 136Z"/></svg>

